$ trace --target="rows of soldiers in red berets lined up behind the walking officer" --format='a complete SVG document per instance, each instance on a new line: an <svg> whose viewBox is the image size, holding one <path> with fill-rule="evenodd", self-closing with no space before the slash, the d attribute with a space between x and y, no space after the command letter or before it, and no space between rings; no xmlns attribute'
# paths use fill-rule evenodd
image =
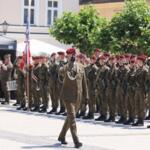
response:
<svg viewBox="0 0 150 150"><path fill-rule="evenodd" d="M94 119L99 113L95 121L132 126L143 126L144 120L150 120L150 59L146 55L113 55L96 49L90 58L77 54L75 61L84 65L89 92L89 99L82 98L77 118ZM66 115L61 97L64 77L59 70L67 63L64 52L33 57L27 98L26 73L20 69L22 57L18 57L14 66L17 110ZM52 109L47 111L49 104Z"/></svg>

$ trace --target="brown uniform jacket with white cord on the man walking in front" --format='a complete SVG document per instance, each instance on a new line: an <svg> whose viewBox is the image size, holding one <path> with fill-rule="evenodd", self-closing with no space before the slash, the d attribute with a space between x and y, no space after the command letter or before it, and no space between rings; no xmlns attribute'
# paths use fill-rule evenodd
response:
<svg viewBox="0 0 150 150"><path fill-rule="evenodd" d="M71 70L75 73L75 78L70 79L70 67L66 64L60 68L60 73L63 74L63 86L61 91L61 98L68 102L77 102L82 100L82 95L88 99L88 88L85 76L84 66L79 63L74 63Z"/></svg>

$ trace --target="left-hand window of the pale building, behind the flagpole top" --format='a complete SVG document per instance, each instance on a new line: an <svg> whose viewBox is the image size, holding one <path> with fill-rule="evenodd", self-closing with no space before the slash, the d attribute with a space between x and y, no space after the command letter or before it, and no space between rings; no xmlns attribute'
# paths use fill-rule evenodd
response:
<svg viewBox="0 0 150 150"><path fill-rule="evenodd" d="M27 24L28 21L28 13L30 9L30 24L35 24L35 0L31 1L31 6L29 8L29 0L24 0L24 17L23 17L23 23Z"/></svg>

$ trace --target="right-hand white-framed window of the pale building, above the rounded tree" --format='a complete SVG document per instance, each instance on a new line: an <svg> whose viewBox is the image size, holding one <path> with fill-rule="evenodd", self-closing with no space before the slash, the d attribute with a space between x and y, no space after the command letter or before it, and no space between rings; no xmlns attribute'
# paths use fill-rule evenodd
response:
<svg viewBox="0 0 150 150"><path fill-rule="evenodd" d="M58 17L58 1L48 0L47 25L51 26Z"/></svg>

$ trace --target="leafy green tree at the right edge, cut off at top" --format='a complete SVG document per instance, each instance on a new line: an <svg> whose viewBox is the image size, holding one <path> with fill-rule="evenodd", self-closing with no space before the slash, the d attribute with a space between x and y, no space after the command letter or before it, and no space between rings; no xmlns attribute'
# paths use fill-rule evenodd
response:
<svg viewBox="0 0 150 150"><path fill-rule="evenodd" d="M150 8L146 1L126 0L123 11L112 18L109 29L103 29L105 34L100 34L100 43L112 52L147 53L149 27ZM104 40L107 42L103 44Z"/></svg>

